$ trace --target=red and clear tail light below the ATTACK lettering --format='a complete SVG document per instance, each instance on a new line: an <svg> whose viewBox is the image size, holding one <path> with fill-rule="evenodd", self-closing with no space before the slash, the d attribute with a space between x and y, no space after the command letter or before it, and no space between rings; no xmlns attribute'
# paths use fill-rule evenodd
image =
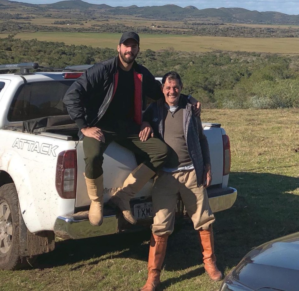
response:
<svg viewBox="0 0 299 291"><path fill-rule="evenodd" d="M77 151L65 150L58 155L56 165L56 190L61 198L76 198Z"/></svg>

